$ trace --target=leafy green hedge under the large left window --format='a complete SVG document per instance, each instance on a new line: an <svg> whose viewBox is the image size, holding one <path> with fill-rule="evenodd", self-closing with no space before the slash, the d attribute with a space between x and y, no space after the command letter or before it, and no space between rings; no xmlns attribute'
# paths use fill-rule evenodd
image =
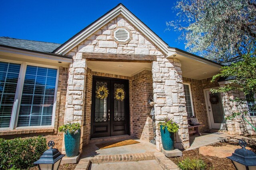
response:
<svg viewBox="0 0 256 170"><path fill-rule="evenodd" d="M27 169L47 149L44 137L0 139L0 169Z"/></svg>

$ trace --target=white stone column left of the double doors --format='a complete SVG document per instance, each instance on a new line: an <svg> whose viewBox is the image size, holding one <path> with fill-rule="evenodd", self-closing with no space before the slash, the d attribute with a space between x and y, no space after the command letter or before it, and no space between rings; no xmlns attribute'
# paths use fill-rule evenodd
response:
<svg viewBox="0 0 256 170"><path fill-rule="evenodd" d="M82 135L84 124L84 92L86 79L86 59L82 53L73 56L68 73L68 90L64 123L79 122L81 124L80 152L82 151ZM63 142L64 144L64 142ZM64 145L62 146L64 150Z"/></svg>

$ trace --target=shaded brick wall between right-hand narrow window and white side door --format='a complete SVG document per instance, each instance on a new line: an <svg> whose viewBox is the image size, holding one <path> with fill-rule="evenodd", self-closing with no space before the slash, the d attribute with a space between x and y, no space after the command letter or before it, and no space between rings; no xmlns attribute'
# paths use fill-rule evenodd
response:
<svg viewBox="0 0 256 170"><path fill-rule="evenodd" d="M196 80L183 77L183 82L190 84L194 115L198 118L199 123L203 125L199 128L201 132L209 130L209 121L206 110L207 108L204 97L204 89L219 86L217 82L211 83L210 81L211 78Z"/></svg>

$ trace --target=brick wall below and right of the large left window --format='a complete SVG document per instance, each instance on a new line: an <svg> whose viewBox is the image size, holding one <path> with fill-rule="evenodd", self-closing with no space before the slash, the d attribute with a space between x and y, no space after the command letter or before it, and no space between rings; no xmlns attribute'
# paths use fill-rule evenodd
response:
<svg viewBox="0 0 256 170"><path fill-rule="evenodd" d="M42 135L46 137L47 142L53 140L56 148L60 151L62 149L63 133L58 132L58 127L64 124L65 104L66 104L66 92L68 81L68 68L59 68L58 76L58 88L56 96L56 110L54 128L45 129L19 129L12 131L0 131L0 138L14 139L16 137L35 137Z"/></svg>

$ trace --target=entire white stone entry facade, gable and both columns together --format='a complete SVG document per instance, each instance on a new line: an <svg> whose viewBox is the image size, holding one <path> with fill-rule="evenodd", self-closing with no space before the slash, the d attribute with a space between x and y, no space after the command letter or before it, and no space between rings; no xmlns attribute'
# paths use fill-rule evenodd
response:
<svg viewBox="0 0 256 170"><path fill-rule="evenodd" d="M119 43L113 37L113 31L116 28L124 28L130 32L130 40L126 43ZM93 33L84 42L72 49L68 55L72 56L73 62L70 64L68 78L68 94L66 103L66 121L77 121L82 125L84 123L84 94L86 92L86 59L82 53L112 53L112 54L135 54L135 55L154 55L157 61L153 62L152 77L154 88L154 101L156 120L163 121L167 115L171 116L180 124L179 139L184 148L189 147L188 125L186 118L186 108L184 100L184 90L182 86L182 77L180 62L176 59L165 59L163 53L142 35L128 20L119 15L108 24L104 25L98 31ZM87 108L87 104L86 104ZM86 119L87 121L87 119ZM82 131L84 131L82 127ZM131 128L133 128L131 126ZM83 142L81 135L81 142ZM160 149L160 134L158 136L157 148ZM85 140L85 139L84 139ZM80 145L82 147L82 145Z"/></svg>

